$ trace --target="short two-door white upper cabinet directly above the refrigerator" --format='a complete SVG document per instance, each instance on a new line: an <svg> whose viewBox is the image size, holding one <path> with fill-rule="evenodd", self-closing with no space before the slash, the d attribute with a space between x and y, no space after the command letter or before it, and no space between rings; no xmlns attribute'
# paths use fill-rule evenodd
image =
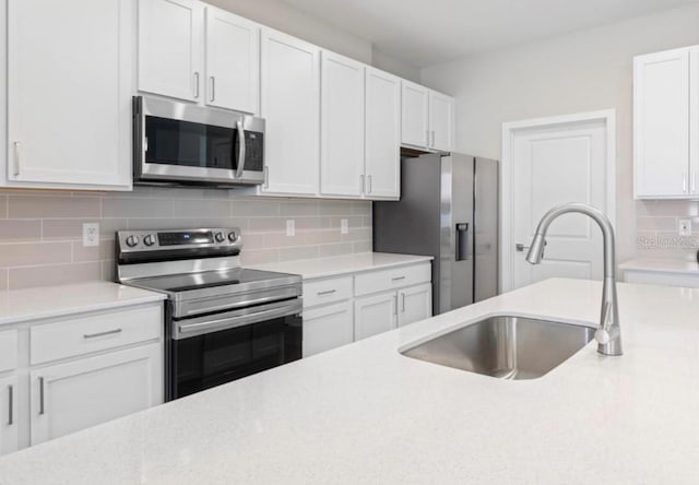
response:
<svg viewBox="0 0 699 485"><path fill-rule="evenodd" d="M454 99L408 81L402 85L401 143L441 152L453 150Z"/></svg>

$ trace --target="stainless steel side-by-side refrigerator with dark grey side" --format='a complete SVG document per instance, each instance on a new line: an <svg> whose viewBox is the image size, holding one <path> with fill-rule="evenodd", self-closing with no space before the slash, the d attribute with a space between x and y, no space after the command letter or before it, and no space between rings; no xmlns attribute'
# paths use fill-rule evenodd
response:
<svg viewBox="0 0 699 485"><path fill-rule="evenodd" d="M498 163L401 159L401 200L374 203L374 250L433 256L435 315L498 293Z"/></svg>

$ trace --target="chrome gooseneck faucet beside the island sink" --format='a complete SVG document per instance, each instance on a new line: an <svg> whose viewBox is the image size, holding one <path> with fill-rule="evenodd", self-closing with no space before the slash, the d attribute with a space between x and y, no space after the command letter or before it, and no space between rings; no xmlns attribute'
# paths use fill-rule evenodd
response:
<svg viewBox="0 0 699 485"><path fill-rule="evenodd" d="M597 209L580 203L557 205L542 217L532 246L526 253L526 261L538 264L544 258L546 232L556 217L571 212L588 215L602 229L604 240L604 285L602 287L602 314L600 327L594 332L597 352L603 355L621 355L621 329L619 328L619 309L616 297L616 264L614 263L614 228L612 223Z"/></svg>

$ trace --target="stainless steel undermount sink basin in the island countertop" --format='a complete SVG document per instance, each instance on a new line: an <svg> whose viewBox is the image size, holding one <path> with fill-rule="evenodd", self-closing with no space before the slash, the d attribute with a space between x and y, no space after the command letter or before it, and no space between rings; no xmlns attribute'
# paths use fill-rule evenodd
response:
<svg viewBox="0 0 699 485"><path fill-rule="evenodd" d="M536 379L584 347L594 338L594 330L498 316L437 336L401 354L500 379Z"/></svg>

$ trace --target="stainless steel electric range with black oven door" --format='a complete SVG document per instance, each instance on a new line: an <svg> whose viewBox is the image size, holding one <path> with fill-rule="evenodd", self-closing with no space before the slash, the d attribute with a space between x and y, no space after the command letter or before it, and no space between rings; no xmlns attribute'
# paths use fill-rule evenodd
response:
<svg viewBox="0 0 699 485"><path fill-rule="evenodd" d="M173 400L301 357L301 277L240 268L238 228L119 230L117 281L167 295Z"/></svg>

